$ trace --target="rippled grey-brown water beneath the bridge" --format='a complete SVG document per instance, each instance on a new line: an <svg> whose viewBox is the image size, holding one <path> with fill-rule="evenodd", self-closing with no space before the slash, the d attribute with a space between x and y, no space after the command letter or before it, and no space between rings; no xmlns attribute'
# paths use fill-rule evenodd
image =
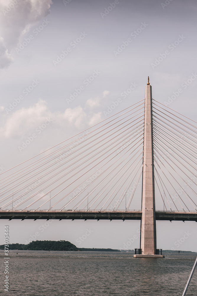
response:
<svg viewBox="0 0 197 296"><path fill-rule="evenodd" d="M196 259L196 254L188 253L149 259L120 252L14 250L9 252L7 293L3 252L0 295L5 296L181 296ZM197 271L187 292L193 295L197 295Z"/></svg>

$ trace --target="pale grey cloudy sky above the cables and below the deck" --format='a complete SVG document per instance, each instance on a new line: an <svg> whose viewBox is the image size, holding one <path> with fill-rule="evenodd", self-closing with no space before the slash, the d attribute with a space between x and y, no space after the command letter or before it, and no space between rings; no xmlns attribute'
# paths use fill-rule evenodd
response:
<svg viewBox="0 0 197 296"><path fill-rule="evenodd" d="M144 99L148 76L153 99L196 120L196 10L194 0L0 0L0 173ZM139 221L51 222L9 221L10 242L139 247ZM158 248L197 251L195 234L196 222L157 221Z"/></svg>

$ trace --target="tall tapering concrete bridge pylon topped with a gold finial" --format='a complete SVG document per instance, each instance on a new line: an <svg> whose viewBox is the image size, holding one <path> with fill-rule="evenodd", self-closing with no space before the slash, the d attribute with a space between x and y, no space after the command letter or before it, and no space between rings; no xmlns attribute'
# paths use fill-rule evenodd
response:
<svg viewBox="0 0 197 296"><path fill-rule="evenodd" d="M152 130L152 87L149 80L145 87L142 219L140 241L142 255L157 254Z"/></svg>

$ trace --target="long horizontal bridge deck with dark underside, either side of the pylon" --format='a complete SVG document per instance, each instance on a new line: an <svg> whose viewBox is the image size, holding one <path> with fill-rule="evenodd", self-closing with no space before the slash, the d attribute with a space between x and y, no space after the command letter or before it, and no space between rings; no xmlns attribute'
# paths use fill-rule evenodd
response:
<svg viewBox="0 0 197 296"><path fill-rule="evenodd" d="M82 220L141 220L141 211L8 211L0 210L0 219L82 219ZM197 212L156 211L156 220L196 221Z"/></svg>

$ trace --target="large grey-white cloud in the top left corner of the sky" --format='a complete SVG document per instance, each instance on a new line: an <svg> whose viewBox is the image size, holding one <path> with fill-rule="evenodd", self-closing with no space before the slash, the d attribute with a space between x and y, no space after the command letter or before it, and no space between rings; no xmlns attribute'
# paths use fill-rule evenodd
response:
<svg viewBox="0 0 197 296"><path fill-rule="evenodd" d="M10 52L30 28L51 11L52 0L0 0L0 68L12 62Z"/></svg>

